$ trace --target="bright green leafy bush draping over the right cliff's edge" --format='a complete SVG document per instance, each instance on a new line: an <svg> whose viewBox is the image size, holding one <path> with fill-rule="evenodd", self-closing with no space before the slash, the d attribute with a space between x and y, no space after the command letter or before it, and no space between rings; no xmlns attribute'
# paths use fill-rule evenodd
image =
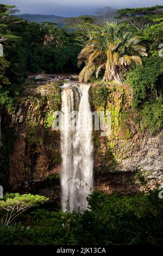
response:
<svg viewBox="0 0 163 256"><path fill-rule="evenodd" d="M127 82L133 88L133 107L137 108L137 119L142 129L152 133L163 125L163 62L159 56L144 59L143 66L137 66L128 74Z"/></svg>

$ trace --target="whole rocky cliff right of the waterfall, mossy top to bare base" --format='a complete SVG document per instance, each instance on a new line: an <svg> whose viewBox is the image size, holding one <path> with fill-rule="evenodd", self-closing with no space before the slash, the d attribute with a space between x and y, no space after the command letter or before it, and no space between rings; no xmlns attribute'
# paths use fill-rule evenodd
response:
<svg viewBox="0 0 163 256"><path fill-rule="evenodd" d="M93 132L95 186L107 193L133 193L163 184L163 132L141 131L128 86L92 86L92 111L111 111L111 135Z"/></svg>

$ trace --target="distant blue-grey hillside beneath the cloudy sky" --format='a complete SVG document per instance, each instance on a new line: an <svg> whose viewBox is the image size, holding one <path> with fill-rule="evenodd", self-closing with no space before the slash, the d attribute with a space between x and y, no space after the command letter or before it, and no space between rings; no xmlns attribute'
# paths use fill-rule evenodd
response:
<svg viewBox="0 0 163 256"><path fill-rule="evenodd" d="M17 15L23 20L27 20L28 22L58 22L62 23L61 21L65 19L65 17L56 16L56 15L41 15L41 14L21 14Z"/></svg>

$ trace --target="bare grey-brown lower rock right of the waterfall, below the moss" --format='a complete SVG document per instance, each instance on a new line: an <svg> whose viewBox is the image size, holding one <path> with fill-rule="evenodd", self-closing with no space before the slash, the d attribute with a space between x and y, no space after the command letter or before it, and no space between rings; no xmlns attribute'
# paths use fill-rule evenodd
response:
<svg viewBox="0 0 163 256"><path fill-rule="evenodd" d="M109 159L104 142L101 157L95 157L96 187L107 193L126 194L163 184L162 136L161 132L153 137L134 136L127 143L117 140Z"/></svg>

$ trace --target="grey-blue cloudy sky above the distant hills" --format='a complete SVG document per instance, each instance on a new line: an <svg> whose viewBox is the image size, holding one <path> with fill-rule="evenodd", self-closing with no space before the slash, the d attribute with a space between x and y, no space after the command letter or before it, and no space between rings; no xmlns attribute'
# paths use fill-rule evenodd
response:
<svg viewBox="0 0 163 256"><path fill-rule="evenodd" d="M162 5L162 0L1 0L3 4L16 5L20 14L49 14L58 16L79 16L95 14L97 9L136 8Z"/></svg>

